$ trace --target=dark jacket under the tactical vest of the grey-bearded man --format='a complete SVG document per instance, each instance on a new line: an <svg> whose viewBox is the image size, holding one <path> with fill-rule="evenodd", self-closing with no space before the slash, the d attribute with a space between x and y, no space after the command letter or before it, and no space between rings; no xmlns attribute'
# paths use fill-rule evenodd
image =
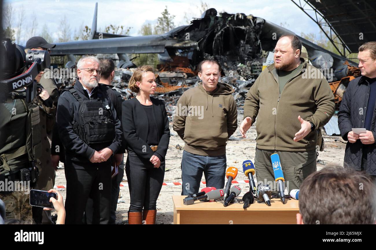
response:
<svg viewBox="0 0 376 250"><path fill-rule="evenodd" d="M79 93L83 100L89 99L89 95L86 90L82 88L80 81L76 81L74 89ZM78 115L80 107L79 101L77 101L69 91L63 92L59 97L56 124L58 125L59 137L65 148L65 163L69 161L73 165L68 167L85 169L108 165L108 162L111 164L110 160L103 163L91 163L90 158L94 155L96 150L98 151L102 148L109 148L116 153L121 147L121 123L117 118L114 107L114 103L116 102L114 90L105 84L99 84L98 87L92 90L91 99L97 98L98 92L102 93L103 98L108 102L111 108L111 116L115 123L116 138L110 143L96 143L96 145L92 146L93 148L83 142L73 131L72 123Z"/></svg>

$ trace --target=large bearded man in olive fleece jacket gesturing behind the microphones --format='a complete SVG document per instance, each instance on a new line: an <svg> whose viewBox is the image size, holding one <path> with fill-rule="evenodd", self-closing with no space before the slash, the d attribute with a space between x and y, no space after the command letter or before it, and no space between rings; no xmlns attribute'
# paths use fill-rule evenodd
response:
<svg viewBox="0 0 376 250"><path fill-rule="evenodd" d="M240 133L256 123L256 179L277 194L270 155L278 153L288 192L300 189L316 169L317 129L334 114L334 95L324 75L300 59L302 43L284 35L274 48L274 64L261 72L244 101Z"/></svg>

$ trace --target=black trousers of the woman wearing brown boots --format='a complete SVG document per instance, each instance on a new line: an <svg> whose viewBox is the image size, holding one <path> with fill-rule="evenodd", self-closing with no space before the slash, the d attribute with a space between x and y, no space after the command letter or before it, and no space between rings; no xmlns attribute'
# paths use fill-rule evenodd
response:
<svg viewBox="0 0 376 250"><path fill-rule="evenodd" d="M159 168L155 168L149 160L128 151L125 172L130 192L129 212L155 210L163 184L165 161L161 162Z"/></svg>

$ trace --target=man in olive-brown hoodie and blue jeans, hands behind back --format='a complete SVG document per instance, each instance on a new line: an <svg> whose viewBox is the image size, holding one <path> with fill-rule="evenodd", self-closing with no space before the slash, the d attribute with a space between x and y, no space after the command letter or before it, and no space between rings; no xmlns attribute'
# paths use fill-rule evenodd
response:
<svg viewBox="0 0 376 250"><path fill-rule="evenodd" d="M218 83L219 63L203 60L197 70L202 82L183 93L174 114L174 130L185 142L182 195L199 192L202 173L207 187L224 187L226 142L238 127L234 90Z"/></svg>

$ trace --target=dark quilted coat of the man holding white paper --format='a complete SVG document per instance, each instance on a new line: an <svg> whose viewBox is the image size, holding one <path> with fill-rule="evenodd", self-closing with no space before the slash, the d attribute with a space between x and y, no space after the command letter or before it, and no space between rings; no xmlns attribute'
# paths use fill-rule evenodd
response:
<svg viewBox="0 0 376 250"><path fill-rule="evenodd" d="M347 141L347 134L352 128L364 128L366 108L370 96L370 86L368 78L361 76L350 81L344 93L340 111L338 113L338 127L341 136ZM373 112L371 132L376 139L376 107ZM355 143L347 142L344 157L345 167L361 170L362 157L367 155L364 170L370 175L376 175L376 144L362 144L360 140Z"/></svg>

